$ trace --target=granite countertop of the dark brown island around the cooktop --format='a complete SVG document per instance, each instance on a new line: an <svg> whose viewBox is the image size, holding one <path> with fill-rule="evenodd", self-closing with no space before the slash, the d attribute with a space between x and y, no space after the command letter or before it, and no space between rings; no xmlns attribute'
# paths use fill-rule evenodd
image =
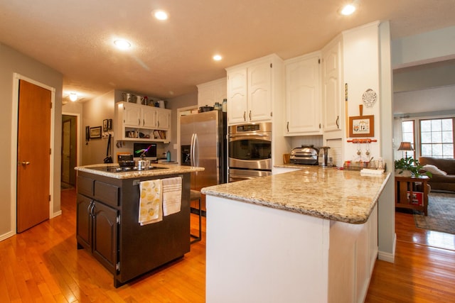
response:
<svg viewBox="0 0 455 303"><path fill-rule="evenodd" d="M137 177L154 177L154 176L162 176L162 175L174 175L174 174L183 174L186 172L200 172L204 170L204 167L196 167L196 166L181 166L181 165L174 165L172 163L169 164L161 164L161 163L153 163L152 166L154 167L164 167L163 170L135 170L129 172L107 172L104 170L96 170L94 167L118 167L118 163L111 163L111 164L93 164L93 165L85 165L85 166L78 166L75 167L75 170L80 172L90 172L91 174L101 175L105 177L111 177L115 179L130 179L130 178L137 178Z"/></svg>

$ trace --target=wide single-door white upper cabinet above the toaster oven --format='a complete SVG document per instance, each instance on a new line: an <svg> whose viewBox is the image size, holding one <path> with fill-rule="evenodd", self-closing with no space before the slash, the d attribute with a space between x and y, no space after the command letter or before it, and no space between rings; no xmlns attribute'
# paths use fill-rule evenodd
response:
<svg viewBox="0 0 455 303"><path fill-rule="evenodd" d="M284 62L286 129L284 136L319 135L321 128L319 52Z"/></svg>

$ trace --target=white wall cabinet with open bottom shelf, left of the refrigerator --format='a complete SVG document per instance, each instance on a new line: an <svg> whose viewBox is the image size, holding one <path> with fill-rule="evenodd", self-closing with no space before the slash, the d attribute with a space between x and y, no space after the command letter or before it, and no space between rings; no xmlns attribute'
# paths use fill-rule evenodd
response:
<svg viewBox="0 0 455 303"><path fill-rule="evenodd" d="M117 102L115 104L117 140L170 141L171 110ZM148 137L148 138L146 138Z"/></svg>

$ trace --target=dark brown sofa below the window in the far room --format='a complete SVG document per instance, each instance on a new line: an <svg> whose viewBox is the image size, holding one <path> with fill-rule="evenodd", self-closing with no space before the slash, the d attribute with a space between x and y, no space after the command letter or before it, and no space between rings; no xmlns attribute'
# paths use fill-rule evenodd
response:
<svg viewBox="0 0 455 303"><path fill-rule="evenodd" d="M455 159L419 157L423 169L432 173L428 184L432 190L455 192Z"/></svg>

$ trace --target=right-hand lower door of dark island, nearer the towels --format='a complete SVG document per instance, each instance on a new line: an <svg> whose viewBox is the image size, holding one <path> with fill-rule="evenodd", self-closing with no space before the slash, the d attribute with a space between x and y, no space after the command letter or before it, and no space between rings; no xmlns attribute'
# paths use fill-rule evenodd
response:
<svg viewBox="0 0 455 303"><path fill-rule="evenodd" d="M93 207L93 255L112 273L117 264L118 211L96 202Z"/></svg>

